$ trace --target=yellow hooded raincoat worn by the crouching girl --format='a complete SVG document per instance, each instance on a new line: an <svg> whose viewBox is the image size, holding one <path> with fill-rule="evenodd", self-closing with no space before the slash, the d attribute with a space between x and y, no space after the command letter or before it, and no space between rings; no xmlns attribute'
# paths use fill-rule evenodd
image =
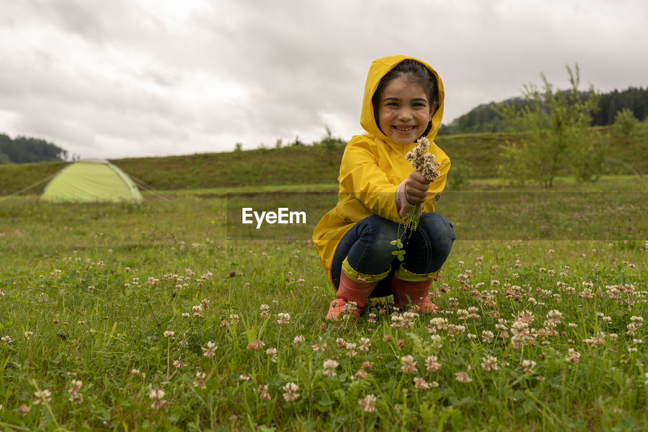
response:
<svg viewBox="0 0 648 432"><path fill-rule="evenodd" d="M347 144L340 165L340 177L338 177L340 182L338 205L321 218L313 231L313 241L319 259L331 284L333 283L331 267L335 251L344 234L355 223L371 214L400 222L396 205L396 191L400 183L414 170L410 161L405 159L405 155L416 146L416 143L402 146L391 141L380 131L374 118L371 97L378 88L382 77L407 58L412 57L391 56L371 63L360 115L360 125L368 133L354 135ZM413 60L421 62L416 58ZM423 212L433 212L434 203L438 201L445 187L448 170L450 170L450 159L432 142L443 117L443 82L430 65L421 63L434 73L439 85L439 108L432 117L432 128L427 135L430 140L427 152L434 153L437 162L441 163L439 167L441 175L430 184L429 198L426 199L423 210Z"/></svg>

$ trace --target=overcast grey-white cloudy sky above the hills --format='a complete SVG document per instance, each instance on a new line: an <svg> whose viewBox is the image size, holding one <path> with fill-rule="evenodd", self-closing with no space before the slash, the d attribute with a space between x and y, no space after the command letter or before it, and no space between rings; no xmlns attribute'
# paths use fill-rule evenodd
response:
<svg viewBox="0 0 648 432"><path fill-rule="evenodd" d="M0 0L0 133L81 157L231 151L364 133L369 65L405 54L445 118L568 87L648 85L645 0Z"/></svg>

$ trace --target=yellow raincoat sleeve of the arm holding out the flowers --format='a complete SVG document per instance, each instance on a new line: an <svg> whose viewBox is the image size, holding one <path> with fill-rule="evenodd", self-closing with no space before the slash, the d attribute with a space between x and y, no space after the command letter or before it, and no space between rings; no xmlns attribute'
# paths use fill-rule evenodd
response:
<svg viewBox="0 0 648 432"><path fill-rule="evenodd" d="M350 141L342 156L338 180L347 194L358 199L373 214L400 222L396 206L399 185L393 185L386 172L378 168L378 154L373 141Z"/></svg>

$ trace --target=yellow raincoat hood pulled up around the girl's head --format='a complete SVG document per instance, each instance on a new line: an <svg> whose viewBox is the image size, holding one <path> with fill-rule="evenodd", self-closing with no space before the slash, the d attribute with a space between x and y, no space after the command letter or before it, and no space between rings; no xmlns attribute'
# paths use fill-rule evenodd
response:
<svg viewBox="0 0 648 432"><path fill-rule="evenodd" d="M434 137L437 135L437 131L439 131L439 126L441 126L441 119L443 118L443 97L444 97L444 92L443 92L443 82L441 82L441 77L439 77L439 74L430 67L425 62L422 62L421 60L413 57L408 57L408 56L389 56L389 57L384 57L379 60L375 60L373 63L371 63L371 67L369 68L369 73L367 74L367 82L365 84L365 90L364 90L364 98L362 99L362 113L360 114L360 125L362 128L375 135L376 137L384 140L385 142L388 142L389 144L397 145L391 141L378 127L378 123L376 122L376 118L374 116L374 111L373 111L373 104L371 103L371 98L373 97L373 94L376 93L376 89L378 88L378 84L380 84L380 80L382 80L382 77L385 76L391 69L396 67L400 62L406 59L411 59L411 60L416 60L417 62L421 63L425 67L427 67L430 72L434 74L437 78L437 83L439 87L439 106L437 107L437 110L434 112L434 115L432 116L432 127L430 128L430 132L426 137L430 142L434 141Z"/></svg>

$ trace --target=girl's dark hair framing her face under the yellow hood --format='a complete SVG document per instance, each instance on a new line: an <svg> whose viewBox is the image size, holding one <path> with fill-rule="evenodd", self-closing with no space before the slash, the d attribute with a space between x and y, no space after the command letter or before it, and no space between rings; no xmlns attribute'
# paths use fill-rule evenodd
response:
<svg viewBox="0 0 648 432"><path fill-rule="evenodd" d="M391 82L391 80L399 78L400 76L405 76L412 84L422 85L425 94L428 97L428 104L434 106L435 111L439 108L439 85L437 84L437 77L434 76L432 71L425 67L423 63L408 58L397 64L393 69L391 69L391 71L382 77L378 83L378 87L376 87L376 91L373 93L373 97L371 97L373 118L378 129L380 129L380 124L378 124L378 106L380 105L382 91L386 85ZM430 128L432 128L432 122L428 124L428 128L426 128L422 136L428 135L428 133L430 133Z"/></svg>

